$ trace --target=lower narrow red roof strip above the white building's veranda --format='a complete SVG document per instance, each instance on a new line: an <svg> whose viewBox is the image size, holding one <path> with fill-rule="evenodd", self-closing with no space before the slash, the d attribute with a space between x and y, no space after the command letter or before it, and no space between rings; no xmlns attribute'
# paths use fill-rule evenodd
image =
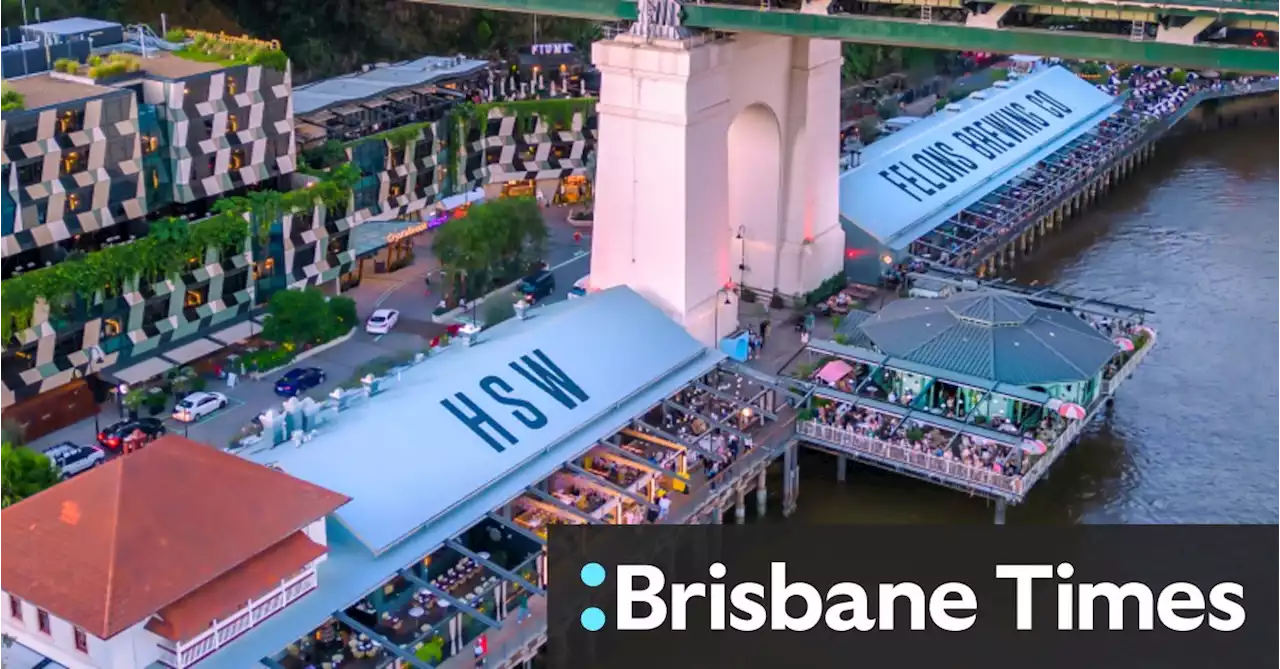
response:
<svg viewBox="0 0 1280 669"><path fill-rule="evenodd" d="M275 590L282 581L325 554L325 547L294 532L239 567L219 576L200 590L160 609L147 629L169 641L187 641L243 609L250 600Z"/></svg>

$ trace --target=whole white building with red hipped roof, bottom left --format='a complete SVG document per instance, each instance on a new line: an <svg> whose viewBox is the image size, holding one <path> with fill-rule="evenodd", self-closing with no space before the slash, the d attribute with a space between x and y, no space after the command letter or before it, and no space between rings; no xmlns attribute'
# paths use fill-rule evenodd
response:
<svg viewBox="0 0 1280 669"><path fill-rule="evenodd" d="M349 498L202 444L145 450L0 512L0 634L68 669L183 669L316 587Z"/></svg>

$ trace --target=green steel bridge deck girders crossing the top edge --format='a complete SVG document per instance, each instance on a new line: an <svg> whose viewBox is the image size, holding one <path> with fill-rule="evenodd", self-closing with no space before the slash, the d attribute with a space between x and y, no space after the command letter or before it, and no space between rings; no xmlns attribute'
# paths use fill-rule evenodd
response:
<svg viewBox="0 0 1280 669"><path fill-rule="evenodd" d="M522 12L603 22L635 20L635 0L417 0L476 9ZM892 0L892 5L954 8L959 0ZM1062 3L1039 0L1030 12L1088 20L1156 22L1160 17L1213 17L1249 29L1280 31L1280 0L1178 0L1175 3ZM1133 40L1079 29L979 28L964 23L863 14L810 14L755 5L687 3L684 26L723 32L764 32L847 42L919 46L948 51L1036 54L1108 63L1280 74L1280 50L1220 43Z"/></svg>

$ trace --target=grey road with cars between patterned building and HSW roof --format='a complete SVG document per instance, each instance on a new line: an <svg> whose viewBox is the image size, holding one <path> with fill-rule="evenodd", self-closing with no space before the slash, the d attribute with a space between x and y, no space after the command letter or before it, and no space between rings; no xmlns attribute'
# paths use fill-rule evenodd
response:
<svg viewBox="0 0 1280 669"><path fill-rule="evenodd" d="M590 271L588 253L590 238L584 237L582 240L575 242L576 228L566 223L566 214L567 210L548 210L550 234L547 242L547 262L556 274L556 293L547 302L564 299L573 283ZM582 232L584 235L589 235L589 229ZM443 325L431 321L431 312L439 302L439 295L426 294L422 281L426 274L439 272L439 264L430 252L429 234L416 240L415 257L413 265L394 274L366 275L361 285L346 293L356 301L356 311L361 319L367 319L378 308L392 308L401 312L401 320L389 334L370 335L357 330L349 340L301 361L297 366L324 370L325 382L316 391L328 393L338 388L361 366L376 358L422 350L434 336L444 331ZM274 389L275 381L283 375L284 370L259 381L241 381L234 388L228 388L221 381L211 382L206 390L225 394L229 405L191 425L169 418L166 425L170 434L186 435L219 448L227 446L256 416L269 408L279 407L283 398L278 397ZM114 404L104 405L99 414L99 425L106 427L118 420L120 420L119 409ZM28 446L45 452L64 441L92 444L95 440L93 420L90 418L33 440Z"/></svg>

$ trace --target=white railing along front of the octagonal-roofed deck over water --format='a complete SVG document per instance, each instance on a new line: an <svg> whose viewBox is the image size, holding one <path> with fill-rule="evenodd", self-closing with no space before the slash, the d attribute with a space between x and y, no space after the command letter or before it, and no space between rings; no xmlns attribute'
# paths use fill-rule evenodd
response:
<svg viewBox="0 0 1280 669"><path fill-rule="evenodd" d="M940 458L932 453L911 450L867 435L860 435L840 427L832 427L817 421L804 421L796 430L801 436L822 440L827 444L851 449L859 455L892 466L906 466L931 478L947 478L950 482L982 491L989 495L1020 501L1029 486L1020 476L1005 476L982 467L972 467L963 462Z"/></svg>

